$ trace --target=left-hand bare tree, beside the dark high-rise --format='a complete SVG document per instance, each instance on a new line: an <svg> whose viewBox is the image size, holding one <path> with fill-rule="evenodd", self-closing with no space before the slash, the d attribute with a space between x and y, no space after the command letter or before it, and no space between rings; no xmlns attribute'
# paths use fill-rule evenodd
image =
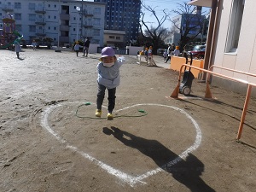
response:
<svg viewBox="0 0 256 192"><path fill-rule="evenodd" d="M155 13L155 8L152 8L151 6L143 5L143 8L146 9L151 16L154 17L154 19L157 21L156 26L152 26L151 22L146 22L144 20L145 13L141 13L141 20L140 20L140 32L143 39L145 39L146 42L151 42L151 46L153 46L153 54L155 55L157 52L157 49L159 49L164 44L164 39L167 35L167 29L163 27L164 22L168 19L169 15L166 12L166 9L162 10L164 15L159 18L158 15ZM143 32L143 26L146 28Z"/></svg>

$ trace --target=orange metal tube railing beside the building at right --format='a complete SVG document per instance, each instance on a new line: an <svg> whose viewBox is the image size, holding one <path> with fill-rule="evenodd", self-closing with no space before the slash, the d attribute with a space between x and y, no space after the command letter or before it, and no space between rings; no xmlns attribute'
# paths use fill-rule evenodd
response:
<svg viewBox="0 0 256 192"><path fill-rule="evenodd" d="M210 85L209 85L210 84L210 75L209 74L218 76L218 77L223 78L223 79L229 79L229 80L232 80L232 81L240 82L241 84L247 84L247 96L245 98L244 107L243 107L243 110L242 110L242 113L241 113L240 125L239 125L237 136L236 136L236 139L239 140L241 138L241 131L242 131L243 124L244 124L244 121L245 121L245 116L246 116L246 113L247 113L247 108L248 108L249 100L250 100L250 97L251 97L252 88L256 87L256 84L249 83L249 82L247 82L245 80L242 80L242 79L231 78L231 77L223 75L223 74L214 73L212 71L209 71L207 69L202 69L200 67L194 67L194 66L189 66L188 64L183 64L182 67L180 67L177 86L172 92L172 95L171 95L172 98L178 98L178 92L179 92L179 87L180 87L180 79L181 79L181 74L182 74L183 67L195 68L197 70L200 70L202 72L207 73L207 89L206 89L205 98L212 98L212 93L211 93ZM218 66L212 66L212 67L218 67ZM210 67L210 69L212 69L212 67ZM232 71L232 72L235 72L235 73L242 73L242 74L247 74L249 76L256 77L256 75L253 74L253 73L245 73L245 72L241 72L241 71L238 71L238 70L235 70L235 69L229 69L229 68L225 68L225 67L218 67L218 68L228 70L228 71Z"/></svg>

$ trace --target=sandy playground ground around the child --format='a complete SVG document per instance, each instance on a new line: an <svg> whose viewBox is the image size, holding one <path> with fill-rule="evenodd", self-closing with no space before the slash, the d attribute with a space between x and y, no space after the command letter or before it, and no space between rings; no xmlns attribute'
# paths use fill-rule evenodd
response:
<svg viewBox="0 0 256 192"><path fill-rule="evenodd" d="M115 118L95 119L100 55L0 50L0 191L256 191L256 99L125 56ZM166 67L168 65L166 64ZM141 112L144 113L141 113Z"/></svg>

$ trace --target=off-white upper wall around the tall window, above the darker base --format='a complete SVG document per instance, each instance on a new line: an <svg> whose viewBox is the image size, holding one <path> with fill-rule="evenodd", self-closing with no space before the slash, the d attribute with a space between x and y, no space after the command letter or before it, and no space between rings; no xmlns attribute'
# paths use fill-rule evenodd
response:
<svg viewBox="0 0 256 192"><path fill-rule="evenodd" d="M225 53L225 45L229 30L231 3L230 0L223 1L221 18L218 26L218 37L216 38L216 53L213 63L216 66L227 67L239 71L256 74L256 17L255 0L246 0L241 21L241 32L236 54ZM256 78L247 75L214 69L216 73L222 73L236 79L244 79L256 84Z"/></svg>

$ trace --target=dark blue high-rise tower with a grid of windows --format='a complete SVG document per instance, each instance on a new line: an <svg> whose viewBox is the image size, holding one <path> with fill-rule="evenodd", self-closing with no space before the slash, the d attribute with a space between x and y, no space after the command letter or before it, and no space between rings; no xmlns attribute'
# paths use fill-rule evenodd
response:
<svg viewBox="0 0 256 192"><path fill-rule="evenodd" d="M94 0L107 3L105 30L125 31L124 43L136 40L139 31L140 0Z"/></svg>

